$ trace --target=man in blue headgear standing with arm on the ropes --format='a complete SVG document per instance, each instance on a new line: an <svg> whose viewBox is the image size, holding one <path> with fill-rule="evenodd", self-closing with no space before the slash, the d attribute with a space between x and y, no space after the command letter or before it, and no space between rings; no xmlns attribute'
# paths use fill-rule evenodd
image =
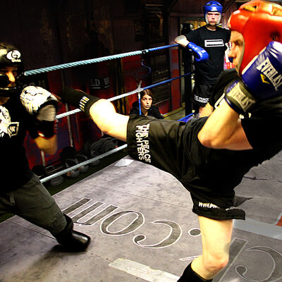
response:
<svg viewBox="0 0 282 282"><path fill-rule="evenodd" d="M217 1L204 5L204 20L207 25L176 37L175 42L185 49L192 49L195 56L195 86L192 103L195 113L209 102L216 79L223 71L223 58L230 31L219 27L222 6Z"/></svg>

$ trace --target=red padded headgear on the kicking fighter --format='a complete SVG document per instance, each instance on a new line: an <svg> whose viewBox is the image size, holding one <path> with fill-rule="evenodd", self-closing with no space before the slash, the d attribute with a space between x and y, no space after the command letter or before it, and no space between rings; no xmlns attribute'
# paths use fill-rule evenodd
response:
<svg viewBox="0 0 282 282"><path fill-rule="evenodd" d="M231 30L244 37L245 50L239 74L271 41L282 43L282 6L268 1L250 1L232 13L228 20Z"/></svg>

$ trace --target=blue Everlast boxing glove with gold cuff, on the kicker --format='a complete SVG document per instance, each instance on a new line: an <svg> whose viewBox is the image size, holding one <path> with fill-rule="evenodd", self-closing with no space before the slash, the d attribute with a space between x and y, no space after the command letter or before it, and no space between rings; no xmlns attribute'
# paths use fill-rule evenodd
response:
<svg viewBox="0 0 282 282"><path fill-rule="evenodd" d="M225 89L226 102L238 114L250 113L255 104L282 94L282 44L270 42L242 73L242 80Z"/></svg>

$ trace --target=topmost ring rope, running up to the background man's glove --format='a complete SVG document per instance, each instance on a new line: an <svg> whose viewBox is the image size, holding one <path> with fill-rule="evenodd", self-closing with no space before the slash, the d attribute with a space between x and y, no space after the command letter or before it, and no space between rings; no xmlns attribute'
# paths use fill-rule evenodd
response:
<svg viewBox="0 0 282 282"><path fill-rule="evenodd" d="M127 53L122 53L122 54L116 54L116 55L111 55L111 56L104 56L96 59L89 59L89 60L84 60L84 61L76 61L73 63L62 63L61 65L56 65L56 66L49 66L46 68L37 68L35 70L31 71L25 71L23 74L25 76L28 75L36 75L38 73L47 73L49 71L56 71L56 70L61 70L63 68L72 68L74 66L82 66L82 65L87 65L89 63L100 63L102 61L109 61L109 60L114 60L114 59L120 59L126 56L135 56L135 55L140 55L144 53L148 53L149 51L156 51L156 50L161 50L161 49L166 49L166 48L171 48L171 47L176 47L179 44L170 44L166 46L161 46L161 47L154 47L150 49L145 49L141 51L131 51Z"/></svg>

